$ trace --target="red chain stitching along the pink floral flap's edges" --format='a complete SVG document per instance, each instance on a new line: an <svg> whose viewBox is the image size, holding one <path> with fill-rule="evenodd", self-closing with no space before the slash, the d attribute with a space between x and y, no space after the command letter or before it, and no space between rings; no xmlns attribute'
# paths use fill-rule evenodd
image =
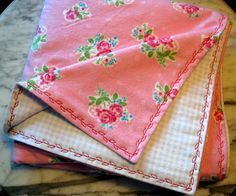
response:
<svg viewBox="0 0 236 196"><path fill-rule="evenodd" d="M216 33L224 26L223 21L224 21L225 19L226 19L226 17L225 17L224 15L221 15L221 18L219 18L219 25L215 28L215 31L214 31L213 33L211 33L209 36L212 36L212 35L216 34ZM190 71L189 68L188 68L188 66L189 66L190 64L194 63L194 62L198 59L198 58L197 58L197 55L202 52L203 46L204 46L204 44L203 44L203 42L202 42L202 44L201 44L201 46L200 46L200 49L197 50L197 51L195 51L195 52L193 53L191 59L187 61L187 63L186 63L186 65L185 65L184 69L179 72L178 78L177 78L176 81L171 85L170 90L173 89L174 85L176 85L177 83L180 82L181 76L182 76L183 74L185 74L185 73L187 73L187 72ZM32 84L28 84L28 85L32 85ZM140 148L140 145L141 145L142 143L147 142L146 140L149 139L149 137L146 136L146 133L147 133L149 130L152 130L152 129L153 129L153 125L154 125L154 124L153 124L153 120L155 119L155 117L157 117L157 116L159 116L160 114L163 113L163 111L161 111L160 109L162 108L162 106L166 105L166 104L161 104L161 105L159 105L159 106L157 107L157 110L156 110L156 112L154 113L154 115L152 115L152 116L150 117L149 123L144 127L143 136L136 142L136 149L135 149L134 153L131 153L131 152L128 152L128 151L127 151L127 148L121 147L121 146L117 145L117 144L116 144L116 141L115 141L114 139L112 139L112 138L107 138L107 137L105 136L105 134L106 134L105 132L95 130L95 129L94 129L94 126L93 126L92 124L86 123L83 118L81 118L81 117L79 117L79 116L76 116L76 115L74 114L74 111L73 111L72 109L70 109L70 108L65 108L65 107L63 106L63 102L60 101L60 100L55 100L54 98L52 98L52 95L51 95L49 92L47 92L47 91L43 92L43 91L39 88L39 86L37 86L37 85L34 85L33 87L36 89L36 92L37 92L38 94L40 94L40 95L46 95L46 96L48 97L48 100L49 100L51 103L53 103L53 104L56 103L57 105L59 105L59 108L60 108L60 110L61 110L62 112L68 112L73 120L79 120L80 123L81 123L81 125L82 125L82 127L84 127L85 129L87 129L88 131L90 131L91 134L94 134L94 135L97 135L97 134L98 134L98 135L100 135L101 138L105 141L105 143L110 143L111 145L113 145L114 150L116 150L116 151L119 151L119 150L122 151L122 152L127 156L126 158L127 158L128 160L132 161L132 162L136 162L136 161L137 161L137 158L139 157L139 154L140 154L139 151L142 150L142 148Z"/></svg>

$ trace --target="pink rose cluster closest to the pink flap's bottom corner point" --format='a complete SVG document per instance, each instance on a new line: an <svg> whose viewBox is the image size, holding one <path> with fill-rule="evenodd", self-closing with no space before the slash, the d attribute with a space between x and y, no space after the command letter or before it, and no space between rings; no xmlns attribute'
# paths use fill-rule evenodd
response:
<svg viewBox="0 0 236 196"><path fill-rule="evenodd" d="M133 119L125 106L125 97L119 97L118 93L111 96L98 88L96 96L89 96L88 112L101 123L103 129L113 129L119 122L129 122Z"/></svg>

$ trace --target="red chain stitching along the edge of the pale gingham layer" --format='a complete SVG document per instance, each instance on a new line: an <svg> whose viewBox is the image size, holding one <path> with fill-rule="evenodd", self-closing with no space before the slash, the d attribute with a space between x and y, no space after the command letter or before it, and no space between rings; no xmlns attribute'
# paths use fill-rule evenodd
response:
<svg viewBox="0 0 236 196"><path fill-rule="evenodd" d="M141 175L141 177L142 178L144 178L144 179L154 179L155 180L155 182L157 182L157 183L160 183L160 184L163 184L163 183L167 183L167 184L170 184L171 185L171 187L182 187L182 188L184 188L184 190L185 191L191 191L192 190L192 186L193 186L193 184L194 184L194 177L193 177L193 174L194 174L194 170L196 170L197 169L197 164L196 164L196 160L197 160L197 158L200 156L200 151L199 151L199 144L201 144L202 143L202 137L201 137L201 133L202 133L202 131L203 131L203 129L204 129L204 126L203 126L203 122L204 122L204 119L206 118L206 108L209 106L209 104L208 104L208 101L207 101L207 97L210 95L210 93L209 93L209 88L210 88L210 85L212 84L212 74L213 74L213 65L214 65L214 63L215 63L215 61L216 61L216 53L217 53L217 51L218 51L218 49L219 49L219 43L218 43L218 45L217 45L217 50L215 51L215 53L213 54L213 62L210 64L210 73L209 73L209 81L208 81L208 84L207 84L207 86L206 86L206 90L207 90L207 92L206 92L206 95L204 96L204 100L205 100L205 105L203 106L203 117L201 118L201 120L200 120L200 125L201 125L201 129L198 131L198 133L197 133L197 135L199 136L199 140L198 140L198 142L196 143L196 145L195 145L195 149L196 149L196 154L195 154L195 156L193 156L193 159L192 159L192 162L193 162L193 169L192 170L190 170L190 172L189 172L189 175L190 175L190 181L189 181L189 183L188 184L185 184L185 183L176 183L176 182L173 182L171 179L168 179L168 178L164 178L164 179L162 179L162 178L159 178L157 175L155 175L155 174L146 174L146 173L144 173L143 171L140 171L140 170L138 170L138 171L135 171L135 170L132 170L132 169L130 169L128 166L118 166L118 165L116 165L115 163L113 163L113 162L111 162L111 161L109 161L109 162L107 162L107 161L104 161L101 157L98 157L98 156L96 156L96 157L91 157L89 154L87 154L87 153L84 153L84 152L82 152L82 153L80 153L80 152L77 152L77 151L75 151L73 148L68 148L68 149L66 149L66 148L63 148L62 147L62 145L60 145L60 144L50 144L48 141L46 141L46 140L38 140L35 136L33 136L33 135L30 135L30 136L27 136L27 135L25 135L24 134L24 132L22 132L22 131L18 131L18 130L15 130L15 129L12 129L11 130L11 132L13 133L13 135L17 135L17 134L19 134L19 135L21 135L23 138L25 138L25 139L31 139L31 140L33 140L36 144L44 144L44 145L46 145L46 147L47 148L50 148L50 149L53 149L53 148L57 148L57 149L60 149L61 150L61 152L62 153L72 153L73 154L73 156L75 156L75 157L85 157L85 158L87 158L89 161L98 161L98 162L100 162L102 165L104 165L104 166L112 166L115 170L126 170L129 174L138 174L138 175ZM15 116L14 115L14 109L19 105L19 95L21 94L21 93L19 93L20 91L22 91L21 89L18 91L18 96L14 96L14 100L15 100L15 102L14 102L14 104L13 104L13 111L10 113L12 116ZM17 104L16 104L17 103ZM10 119L12 119L12 116L10 116Z"/></svg>

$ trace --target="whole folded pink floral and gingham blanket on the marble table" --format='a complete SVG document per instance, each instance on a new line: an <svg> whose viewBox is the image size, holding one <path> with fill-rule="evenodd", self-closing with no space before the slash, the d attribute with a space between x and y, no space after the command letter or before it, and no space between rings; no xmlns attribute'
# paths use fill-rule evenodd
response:
<svg viewBox="0 0 236 196"><path fill-rule="evenodd" d="M14 161L193 194L222 180L227 17L167 0L46 0L5 131Z"/></svg>

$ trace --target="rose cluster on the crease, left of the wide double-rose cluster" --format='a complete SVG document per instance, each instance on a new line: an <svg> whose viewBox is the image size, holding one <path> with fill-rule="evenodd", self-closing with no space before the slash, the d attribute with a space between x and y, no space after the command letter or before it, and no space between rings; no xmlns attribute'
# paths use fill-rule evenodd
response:
<svg viewBox="0 0 236 196"><path fill-rule="evenodd" d="M103 65L104 67L111 67L117 62L112 50L118 44L118 37L114 36L109 39L98 33L94 37L88 38L87 42L87 45L76 49L76 53L80 55L79 61L86 61L92 57L97 57L93 63L95 65Z"/></svg>

